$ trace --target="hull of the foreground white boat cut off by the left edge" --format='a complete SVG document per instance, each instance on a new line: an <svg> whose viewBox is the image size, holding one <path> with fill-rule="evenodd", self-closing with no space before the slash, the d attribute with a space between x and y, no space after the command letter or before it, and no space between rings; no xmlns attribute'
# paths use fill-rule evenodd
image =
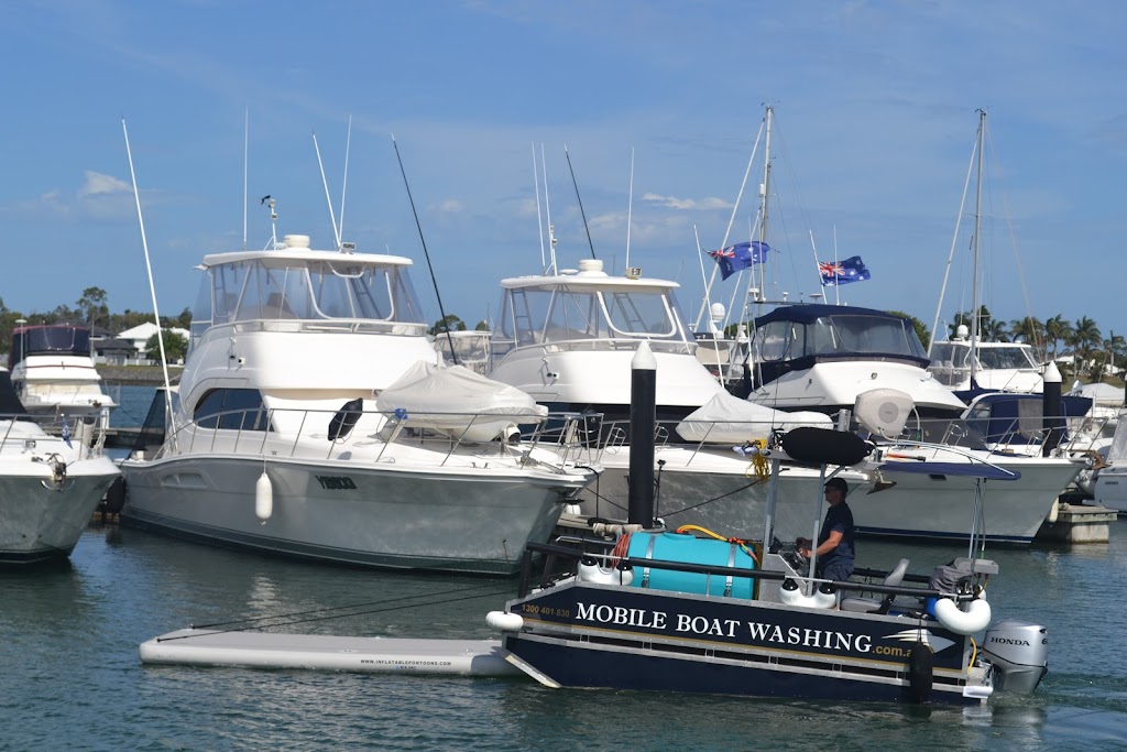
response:
<svg viewBox="0 0 1127 752"><path fill-rule="evenodd" d="M118 475L106 458L71 463L61 483L46 463L0 462L0 564L66 558Z"/></svg>

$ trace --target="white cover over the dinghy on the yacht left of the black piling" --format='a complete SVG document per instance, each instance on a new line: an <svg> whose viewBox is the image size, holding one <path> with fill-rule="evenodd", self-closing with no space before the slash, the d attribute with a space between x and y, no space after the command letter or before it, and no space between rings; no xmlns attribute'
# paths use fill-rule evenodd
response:
<svg viewBox="0 0 1127 752"><path fill-rule="evenodd" d="M548 416L547 407L516 387L462 365L438 368L424 361L381 391L375 405L384 413L406 410L407 427L471 442L492 441L511 426L540 423Z"/></svg>

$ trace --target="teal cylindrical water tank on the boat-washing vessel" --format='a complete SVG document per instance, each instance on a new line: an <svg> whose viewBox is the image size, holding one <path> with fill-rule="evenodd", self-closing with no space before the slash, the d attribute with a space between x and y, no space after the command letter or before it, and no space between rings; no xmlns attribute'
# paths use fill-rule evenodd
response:
<svg viewBox="0 0 1127 752"><path fill-rule="evenodd" d="M755 568L755 560L739 543L675 532L636 532L630 536L630 548L627 556L632 559L710 564L740 569ZM631 587L749 599L754 592L755 582L751 577L729 577L722 574L706 575L644 567L641 572L635 568Z"/></svg>

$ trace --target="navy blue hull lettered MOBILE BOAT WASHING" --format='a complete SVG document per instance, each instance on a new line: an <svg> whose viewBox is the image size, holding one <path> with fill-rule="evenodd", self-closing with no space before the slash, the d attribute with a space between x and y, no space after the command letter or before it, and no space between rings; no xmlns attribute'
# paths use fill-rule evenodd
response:
<svg viewBox="0 0 1127 752"><path fill-rule="evenodd" d="M511 602L514 663L551 687L911 701L908 658L933 651L935 702L978 702L969 644L934 621L795 609L633 587L570 583ZM965 691L971 684L970 690Z"/></svg>

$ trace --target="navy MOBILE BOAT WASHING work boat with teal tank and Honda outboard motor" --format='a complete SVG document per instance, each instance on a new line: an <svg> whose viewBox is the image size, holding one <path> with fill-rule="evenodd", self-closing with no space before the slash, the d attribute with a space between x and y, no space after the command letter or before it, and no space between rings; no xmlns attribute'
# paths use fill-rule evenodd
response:
<svg viewBox="0 0 1127 752"><path fill-rule="evenodd" d="M772 485L780 460L854 463L852 434L799 428L763 448ZM951 475L951 467L911 465ZM976 479L967 557L907 574L903 559L879 581L827 582L774 537L774 495L761 539L710 539L659 529L594 542L530 548L566 561L539 586L488 616L506 658L550 688L610 688L862 701L978 704L995 689L1031 692L1047 670L1044 627L991 626L976 525L983 478L1013 474L964 466ZM815 519L822 504L813 502ZM531 563L531 559L530 559ZM530 564L531 567L531 564ZM982 639L976 639L985 632Z"/></svg>

